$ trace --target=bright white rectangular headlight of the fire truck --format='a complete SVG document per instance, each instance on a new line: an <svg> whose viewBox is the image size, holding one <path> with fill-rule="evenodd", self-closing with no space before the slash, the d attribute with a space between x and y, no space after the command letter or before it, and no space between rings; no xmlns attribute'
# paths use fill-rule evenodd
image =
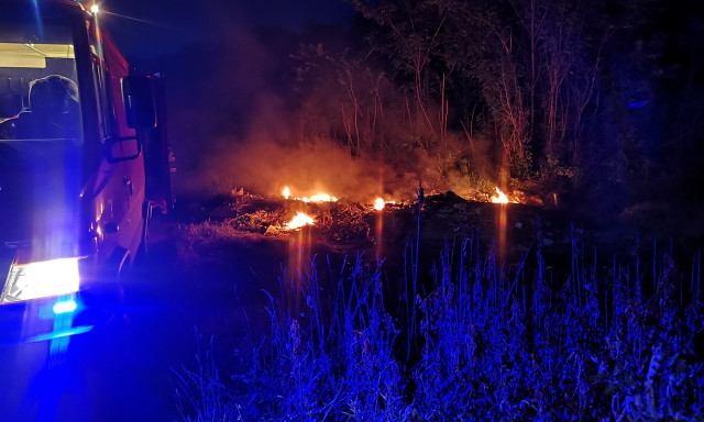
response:
<svg viewBox="0 0 704 422"><path fill-rule="evenodd" d="M13 263L0 296L0 303L62 296L78 291L78 257Z"/></svg>

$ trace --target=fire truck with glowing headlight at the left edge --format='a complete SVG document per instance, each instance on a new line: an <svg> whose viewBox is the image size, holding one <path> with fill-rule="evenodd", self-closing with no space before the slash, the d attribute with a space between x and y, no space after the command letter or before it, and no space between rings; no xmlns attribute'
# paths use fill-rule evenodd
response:
<svg viewBox="0 0 704 422"><path fill-rule="evenodd" d="M69 0L0 5L0 315L75 310L172 203L163 78L132 75L100 18Z"/></svg>

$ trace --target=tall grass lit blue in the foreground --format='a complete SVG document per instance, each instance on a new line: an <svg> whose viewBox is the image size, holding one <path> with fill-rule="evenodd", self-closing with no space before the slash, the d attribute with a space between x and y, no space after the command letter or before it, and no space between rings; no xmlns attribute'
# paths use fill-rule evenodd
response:
<svg viewBox="0 0 704 422"><path fill-rule="evenodd" d="M238 346L227 379L211 356L178 371L183 420L701 420L698 255L685 282L668 252L646 276L639 258L604 266L573 241L561 277L540 234L512 267L473 235L425 280L408 265L396 310L383 262L328 262L329 295L316 258L285 273L278 298L263 292L270 331ZM416 281L430 292L404 299Z"/></svg>

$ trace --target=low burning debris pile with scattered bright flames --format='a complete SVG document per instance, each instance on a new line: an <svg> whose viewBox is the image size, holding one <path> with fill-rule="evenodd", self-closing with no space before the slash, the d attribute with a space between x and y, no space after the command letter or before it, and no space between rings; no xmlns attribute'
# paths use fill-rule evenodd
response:
<svg viewBox="0 0 704 422"><path fill-rule="evenodd" d="M520 197L520 192L505 195L498 188L495 191L493 197L483 193L472 200L452 192L431 191L425 209L430 213L430 220L437 219L441 225L451 226L457 232L468 224L477 223L484 215L486 224L493 224L494 216L488 210L496 206L491 202L525 202L521 201L525 198ZM288 238L292 233L305 230L317 241L360 247L378 244L382 235L392 235L389 231L403 231L402 226L414 219L418 206L415 198L396 202L389 198L374 198L372 195L366 201L355 201L348 197L338 198L324 189L298 191L295 187L283 186L278 192L275 196L261 196L245 192L243 188L234 189L231 195L213 199L213 203L206 207L209 210L204 209L206 214L202 218L238 237ZM442 208L441 204L450 208ZM438 229L437 223L429 221L429 224L430 227ZM381 231L386 233L382 234ZM392 237L396 235L403 236L405 233L396 233Z"/></svg>

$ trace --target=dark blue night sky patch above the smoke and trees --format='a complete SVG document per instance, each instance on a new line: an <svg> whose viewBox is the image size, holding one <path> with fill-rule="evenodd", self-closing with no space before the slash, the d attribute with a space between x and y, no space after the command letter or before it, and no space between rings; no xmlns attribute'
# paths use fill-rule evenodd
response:
<svg viewBox="0 0 704 422"><path fill-rule="evenodd" d="M103 10L119 14L107 15L103 22L133 60L257 26L292 32L306 24L348 26L353 15L352 7L342 0L123 0L106 2Z"/></svg>

